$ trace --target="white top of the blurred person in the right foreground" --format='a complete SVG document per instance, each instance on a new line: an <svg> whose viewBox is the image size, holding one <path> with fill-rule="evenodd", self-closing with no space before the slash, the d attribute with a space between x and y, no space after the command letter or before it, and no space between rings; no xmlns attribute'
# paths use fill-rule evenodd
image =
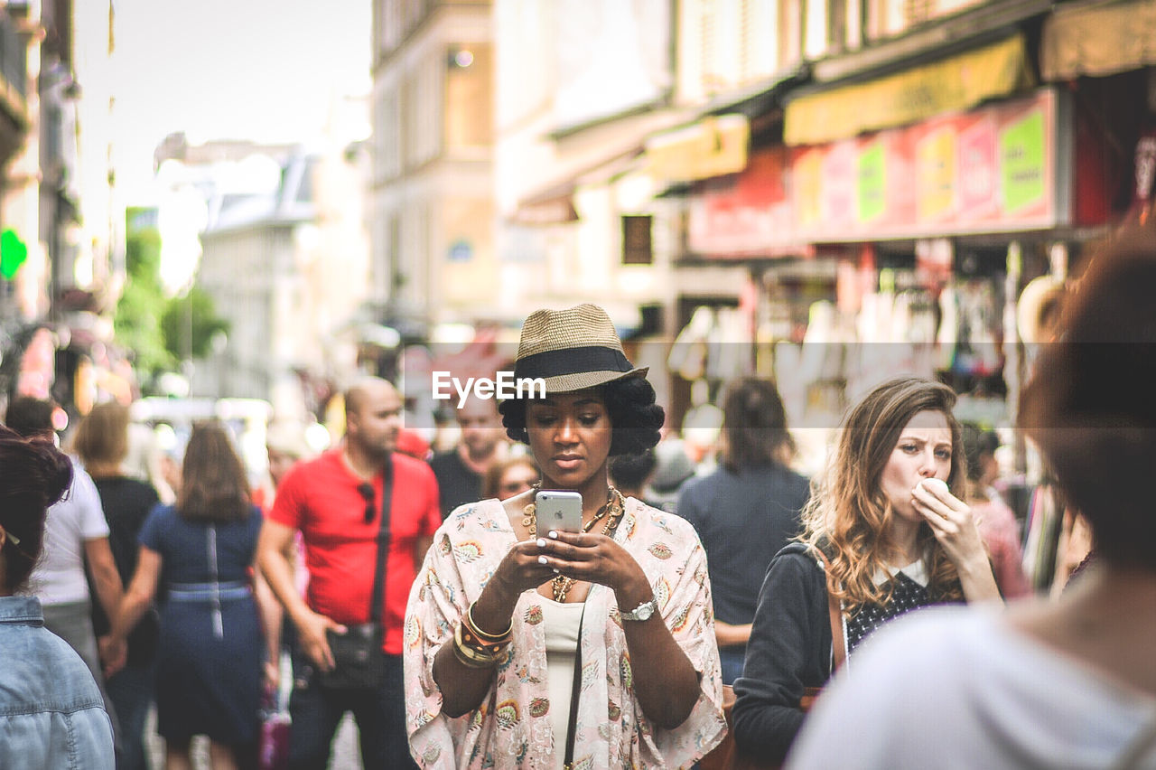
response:
<svg viewBox="0 0 1156 770"><path fill-rule="evenodd" d="M1148 741L1147 748L1138 746ZM1156 697L1015 630L991 607L881 629L824 690L788 768L1156 769Z"/></svg>

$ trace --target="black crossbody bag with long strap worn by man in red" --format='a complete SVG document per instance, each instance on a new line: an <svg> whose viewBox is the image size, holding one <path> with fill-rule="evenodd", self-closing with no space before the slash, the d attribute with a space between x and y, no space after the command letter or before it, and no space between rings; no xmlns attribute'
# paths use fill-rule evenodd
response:
<svg viewBox="0 0 1156 770"><path fill-rule="evenodd" d="M393 497L393 458L385 464L381 479L381 521L377 531L377 564L370 593L369 622L347 625L344 634L326 631L333 669L320 673L321 687L333 690L376 690L385 683L385 624L381 598L385 595L385 565L390 560L390 503Z"/></svg>

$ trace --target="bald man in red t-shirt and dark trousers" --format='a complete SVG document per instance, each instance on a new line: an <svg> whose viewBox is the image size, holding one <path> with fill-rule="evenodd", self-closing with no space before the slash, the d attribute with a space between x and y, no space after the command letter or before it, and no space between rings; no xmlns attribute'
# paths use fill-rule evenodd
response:
<svg viewBox="0 0 1156 770"><path fill-rule="evenodd" d="M412 768L416 765L406 740L402 622L409 586L442 523L437 482L428 465L394 452L401 398L393 385L364 378L346 391L344 401L344 440L286 474L258 543L261 571L297 629L289 765L326 768L338 724L353 711L366 770ZM392 491L383 527L387 488ZM383 530L388 533L387 547L379 550ZM286 556L297 532L310 575L304 598L294 587ZM340 674L334 672L331 639L370 623L379 558L385 562L384 599L377 613L384 681L339 688L327 675Z"/></svg>

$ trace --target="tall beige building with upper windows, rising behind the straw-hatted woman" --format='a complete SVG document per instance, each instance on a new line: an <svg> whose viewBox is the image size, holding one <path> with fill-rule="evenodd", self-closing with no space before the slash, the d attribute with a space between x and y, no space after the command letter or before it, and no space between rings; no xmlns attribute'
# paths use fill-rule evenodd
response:
<svg viewBox="0 0 1156 770"><path fill-rule="evenodd" d="M484 316L494 251L490 3L375 0L368 229L377 320Z"/></svg>

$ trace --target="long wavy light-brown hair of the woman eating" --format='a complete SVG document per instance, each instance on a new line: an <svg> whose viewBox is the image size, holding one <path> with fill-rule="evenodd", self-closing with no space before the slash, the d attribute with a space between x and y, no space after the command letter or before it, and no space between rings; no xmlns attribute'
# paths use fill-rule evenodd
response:
<svg viewBox="0 0 1156 770"><path fill-rule="evenodd" d="M965 465L959 423L951 414L955 392L947 385L919 377L889 379L847 413L838 444L825 473L813 483L803 510L803 542L827 554L830 569L827 590L851 614L865 605L885 606L894 583L876 585L877 570L894 564L901 554L891 539L894 510L880 479L899 434L920 412L940 412L951 430L951 494L965 495ZM963 599L963 587L947 551L931 527L919 526L919 545L927 569L932 601Z"/></svg>

